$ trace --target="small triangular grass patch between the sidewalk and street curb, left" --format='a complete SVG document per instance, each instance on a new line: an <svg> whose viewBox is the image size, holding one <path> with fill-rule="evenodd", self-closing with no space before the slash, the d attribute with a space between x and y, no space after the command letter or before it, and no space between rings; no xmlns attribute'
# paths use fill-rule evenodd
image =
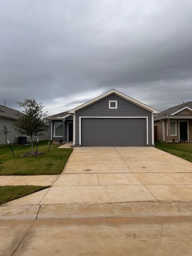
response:
<svg viewBox="0 0 192 256"><path fill-rule="evenodd" d="M27 196L49 186L0 186L0 204Z"/></svg>

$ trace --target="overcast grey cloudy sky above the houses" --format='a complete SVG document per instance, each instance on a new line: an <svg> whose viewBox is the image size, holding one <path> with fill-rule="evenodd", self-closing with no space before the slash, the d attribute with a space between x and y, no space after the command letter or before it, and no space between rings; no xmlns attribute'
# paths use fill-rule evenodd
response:
<svg viewBox="0 0 192 256"><path fill-rule="evenodd" d="M192 100L191 0L0 0L0 104L56 114L112 88L158 110Z"/></svg>

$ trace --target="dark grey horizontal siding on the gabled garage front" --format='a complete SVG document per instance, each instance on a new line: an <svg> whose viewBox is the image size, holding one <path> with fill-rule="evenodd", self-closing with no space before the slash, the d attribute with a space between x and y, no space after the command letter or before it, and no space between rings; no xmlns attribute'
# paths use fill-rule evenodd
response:
<svg viewBox="0 0 192 256"><path fill-rule="evenodd" d="M109 109L109 100L117 100L117 109ZM79 145L80 116L148 116L148 140L149 145L152 145L152 112L116 94L111 94L75 112L75 145Z"/></svg>

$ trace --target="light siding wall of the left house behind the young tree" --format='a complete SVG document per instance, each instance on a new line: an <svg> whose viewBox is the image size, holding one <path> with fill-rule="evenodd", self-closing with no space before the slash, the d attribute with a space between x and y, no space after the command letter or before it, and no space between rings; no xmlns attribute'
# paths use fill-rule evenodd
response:
<svg viewBox="0 0 192 256"><path fill-rule="evenodd" d="M9 140L10 143L16 143L16 137L18 136L26 136L22 134L18 134L14 128L13 124L15 123L15 120L7 119L7 118L0 118L0 145L6 144L6 134L4 133L4 126L7 126L7 130L9 131L7 133L7 140ZM48 126L47 131L44 132L44 135L38 136L39 140L48 140ZM36 140L37 137L34 136L34 140ZM27 137L27 141L30 141L30 137Z"/></svg>

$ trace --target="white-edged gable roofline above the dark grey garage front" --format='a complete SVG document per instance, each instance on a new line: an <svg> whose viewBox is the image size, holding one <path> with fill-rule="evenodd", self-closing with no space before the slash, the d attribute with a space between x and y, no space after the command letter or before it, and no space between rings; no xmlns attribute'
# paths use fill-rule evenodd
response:
<svg viewBox="0 0 192 256"><path fill-rule="evenodd" d="M116 95L120 96L121 98L124 98L125 100L128 100L128 101L140 106L141 108L145 108L146 110L149 110L149 111L153 112L154 114L159 113L158 110L156 110L154 108L151 108L150 106L147 106L146 104L143 104L142 102L140 102L138 100L135 100L134 98L131 98L131 97L127 96L126 94L123 94L122 92L119 92L115 89L112 89L112 90L110 90L110 91L92 99L92 100L89 100L88 102L86 102L86 103L84 103L84 104L82 104L82 105L80 105L76 108L71 109L69 112L71 114L73 114L76 110L80 110L82 108L85 108L86 106L89 106L90 104L92 104L94 102L97 102L98 100L101 100L101 99L105 98L106 96L109 96L110 94L116 94Z"/></svg>

